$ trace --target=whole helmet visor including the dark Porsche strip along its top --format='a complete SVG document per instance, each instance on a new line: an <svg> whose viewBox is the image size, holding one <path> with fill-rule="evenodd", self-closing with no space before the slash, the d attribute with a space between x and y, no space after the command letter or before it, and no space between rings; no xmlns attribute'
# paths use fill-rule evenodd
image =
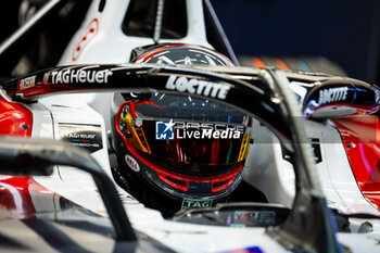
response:
<svg viewBox="0 0 380 253"><path fill-rule="evenodd" d="M249 117L233 109L166 93L155 93L149 102L129 103L126 107L131 117L137 117L138 110L135 122L145 132L145 149L139 150L149 150L156 163L166 163L175 172L218 175L245 156L246 147L237 147L246 141Z"/></svg>

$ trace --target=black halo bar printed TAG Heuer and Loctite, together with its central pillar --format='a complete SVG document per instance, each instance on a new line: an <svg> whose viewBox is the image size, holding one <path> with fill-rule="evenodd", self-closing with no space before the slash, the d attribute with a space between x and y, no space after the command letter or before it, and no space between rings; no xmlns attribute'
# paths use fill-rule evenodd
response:
<svg viewBox="0 0 380 253"><path fill-rule="evenodd" d="M88 72L93 72L93 80L88 79ZM100 72L103 74L98 74ZM176 80L168 86L173 76ZM329 80L327 76L324 78ZM268 228L268 235L289 250L340 252L334 222L315 175L315 165L311 162L311 147L304 141L303 119L296 117L301 110L296 112L297 102L290 96L292 91L287 85L287 76L280 71L126 64L55 67L11 80L3 85L3 89L13 100L23 101L73 91L173 92L208 99L252 115L271 129L290 151L296 175L290 215L279 227ZM378 94L376 87L368 88ZM373 98L373 103L367 105L378 109L378 99Z"/></svg>

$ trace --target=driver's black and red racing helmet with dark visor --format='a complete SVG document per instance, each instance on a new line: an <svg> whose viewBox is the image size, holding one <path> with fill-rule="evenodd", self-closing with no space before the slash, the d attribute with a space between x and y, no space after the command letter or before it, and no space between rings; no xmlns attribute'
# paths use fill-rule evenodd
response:
<svg viewBox="0 0 380 253"><path fill-rule="evenodd" d="M232 65L213 50L189 45L154 47L135 61ZM161 203L174 212L206 207L226 200L241 181L250 142L248 115L164 92L116 93L114 104L114 176L145 205L160 210Z"/></svg>

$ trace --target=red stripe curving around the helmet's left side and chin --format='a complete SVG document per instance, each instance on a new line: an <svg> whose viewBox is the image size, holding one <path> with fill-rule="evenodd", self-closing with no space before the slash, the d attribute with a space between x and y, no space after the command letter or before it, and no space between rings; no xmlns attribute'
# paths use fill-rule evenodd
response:
<svg viewBox="0 0 380 253"><path fill-rule="evenodd" d="M179 174L179 173L168 172L168 170L157 166L156 164L152 163L151 161L149 161L149 160L144 159L142 155L140 155L139 152L135 149L135 147L130 143L129 139L125 137L125 135L122 132L122 130L119 128L119 121L121 121L122 110L128 103L130 103L130 101L124 102L119 106L117 115L116 115L115 127L116 127L116 130L117 130L118 135L121 135L123 137L123 140L124 140L128 151L136 159L138 159L140 162L144 163L148 167L150 167L153 170L155 170L157 173L157 177L162 181L164 181L165 184L169 185L170 187L173 187L175 189L178 189L178 190L181 190L181 191L188 191L190 181L211 182L212 184L212 192L218 192L218 191L225 190L228 187L230 187L232 185L232 182L235 181L235 178L243 169L243 165L238 165L232 170L230 170L230 172L228 172L228 173L226 173L224 175L220 175L220 176L197 177L197 176L189 176L189 175L183 175L183 174ZM181 185L175 184L175 182L170 181L168 179L168 177L177 179L177 180L180 180L180 181L185 181L186 186L181 186ZM224 181L227 181L227 182L223 184L221 186L214 187L215 184L224 182Z"/></svg>

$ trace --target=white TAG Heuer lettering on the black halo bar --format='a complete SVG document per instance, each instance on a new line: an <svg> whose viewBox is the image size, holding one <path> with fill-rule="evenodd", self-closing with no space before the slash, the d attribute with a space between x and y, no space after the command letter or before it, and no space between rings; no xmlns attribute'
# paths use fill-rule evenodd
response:
<svg viewBox="0 0 380 253"><path fill-rule="evenodd" d="M107 84L109 77L113 72L105 71L84 71L84 69L67 69L51 73L51 81L53 84L71 84L71 83L97 83Z"/></svg>

